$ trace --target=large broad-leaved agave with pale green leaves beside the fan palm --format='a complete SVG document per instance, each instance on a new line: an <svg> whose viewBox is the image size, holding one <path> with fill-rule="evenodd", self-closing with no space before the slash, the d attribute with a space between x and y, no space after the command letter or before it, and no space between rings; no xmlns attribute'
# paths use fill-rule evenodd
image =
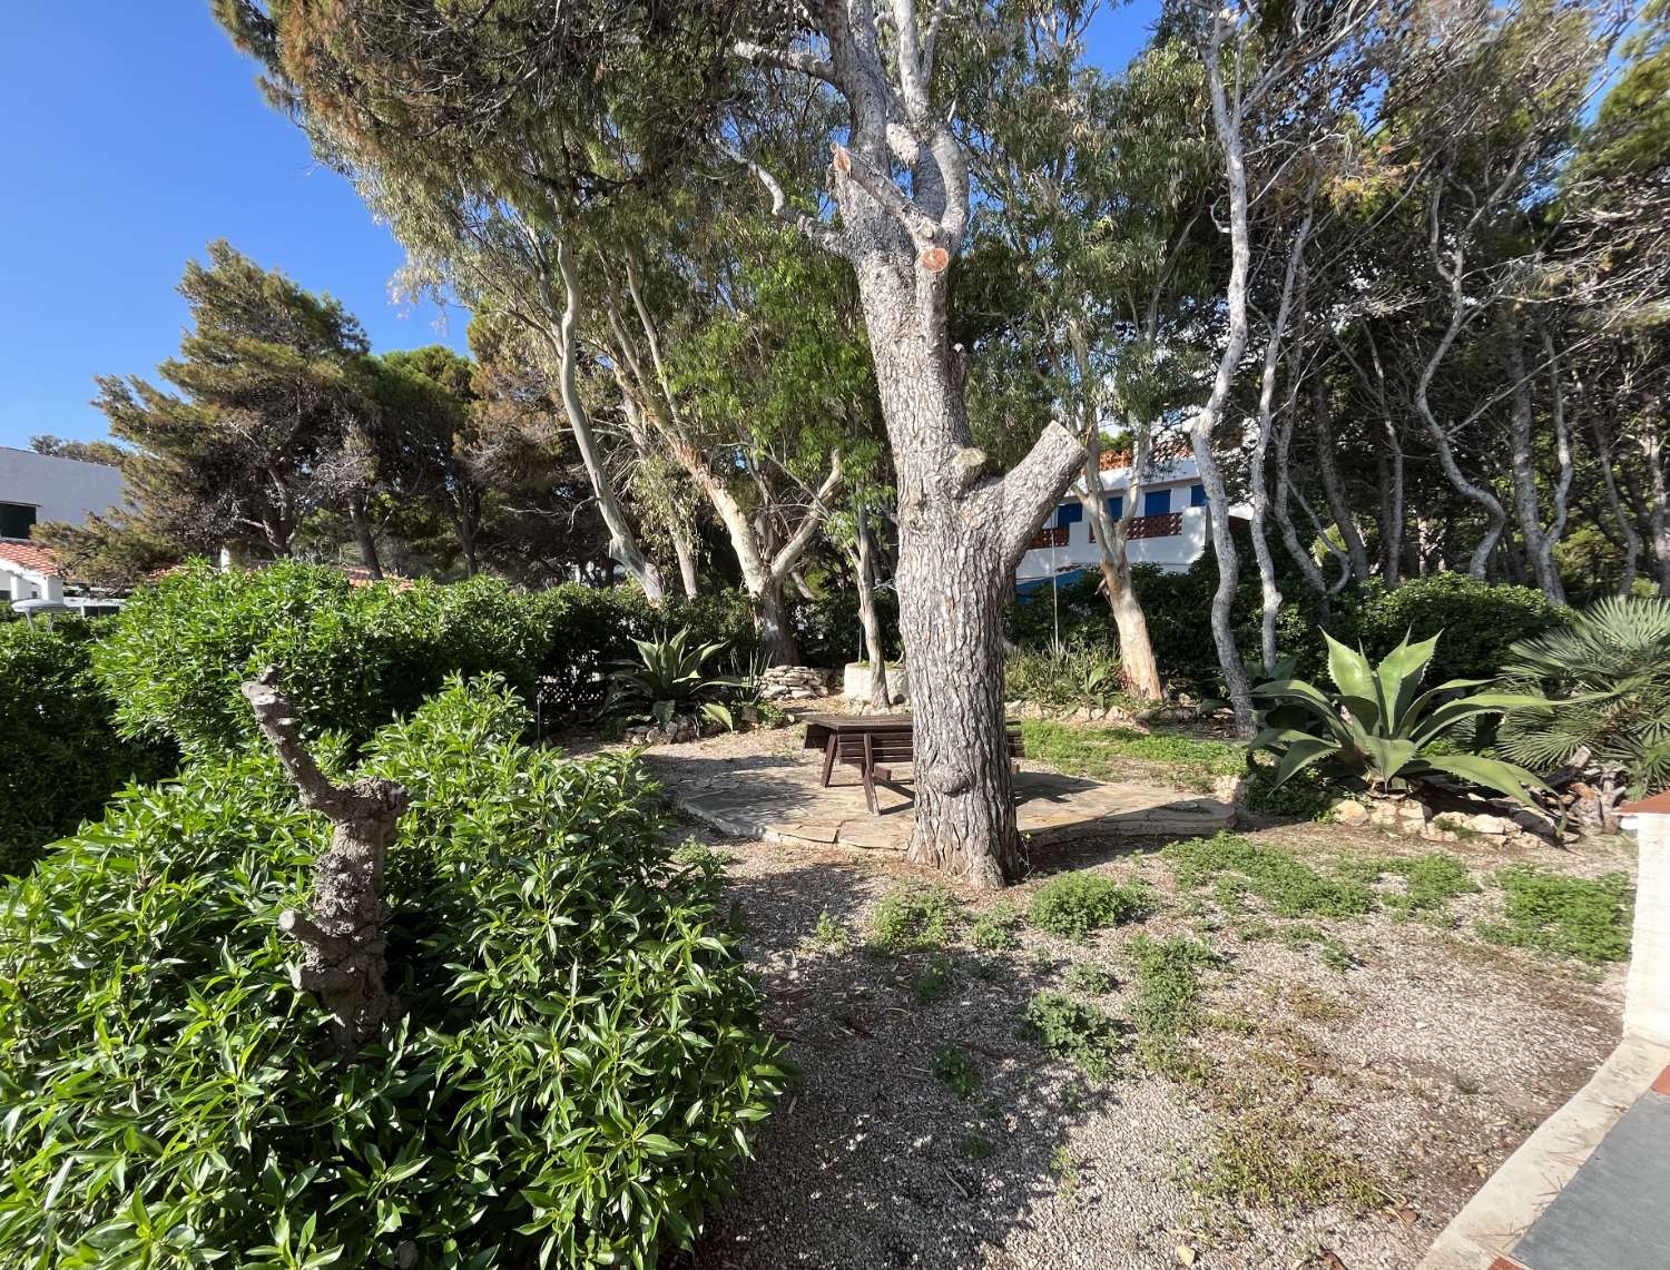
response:
<svg viewBox="0 0 1670 1270"><path fill-rule="evenodd" d="M1453 776L1535 806L1526 789L1546 789L1535 774L1485 754L1458 754L1446 733L1480 714L1531 706L1541 698L1455 696L1485 679L1450 679L1421 691L1438 636L1418 644L1404 638L1379 666L1326 631L1323 638L1336 693L1303 679L1273 679L1252 689L1269 703L1264 731L1252 746L1278 754L1276 786L1321 764L1323 774L1371 794L1404 793L1411 784Z"/></svg>

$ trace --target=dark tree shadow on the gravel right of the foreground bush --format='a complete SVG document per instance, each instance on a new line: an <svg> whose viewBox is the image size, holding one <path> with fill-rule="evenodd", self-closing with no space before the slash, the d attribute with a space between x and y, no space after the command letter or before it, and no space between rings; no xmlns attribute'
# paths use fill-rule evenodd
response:
<svg viewBox="0 0 1670 1270"><path fill-rule="evenodd" d="M837 853L777 858L733 866L730 895L798 1075L736 1195L673 1265L1000 1263L1009 1232L1080 1185L1067 1133L1117 1095L1020 1035L1054 966L960 945L875 953L862 918L895 876Z"/></svg>

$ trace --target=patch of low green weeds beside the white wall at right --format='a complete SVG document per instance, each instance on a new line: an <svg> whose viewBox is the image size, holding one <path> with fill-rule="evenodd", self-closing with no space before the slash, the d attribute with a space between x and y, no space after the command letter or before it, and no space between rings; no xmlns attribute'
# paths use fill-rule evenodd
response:
<svg viewBox="0 0 1670 1270"><path fill-rule="evenodd" d="M1630 879L1566 878L1513 866L1496 873L1506 893L1503 921L1480 925L1491 943L1533 948L1598 965L1630 955Z"/></svg>

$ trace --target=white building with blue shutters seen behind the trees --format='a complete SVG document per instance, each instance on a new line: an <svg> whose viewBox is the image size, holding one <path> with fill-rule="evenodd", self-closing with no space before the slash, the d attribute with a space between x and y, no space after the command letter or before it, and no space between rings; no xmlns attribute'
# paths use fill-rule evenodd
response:
<svg viewBox="0 0 1670 1270"><path fill-rule="evenodd" d="M1131 491L1131 456L1102 451L1101 477L1107 512L1119 517ZM1084 477L1079 477L1039 527L1015 569L1020 591L1050 577L1070 581L1084 569L1101 567L1096 526L1086 514L1082 494ZM1179 449L1152 459L1147 477L1137 484L1137 497L1142 506L1136 509L1126 537L1126 556L1132 564L1157 564L1167 572L1182 572L1206 554L1211 526L1194 456ZM1246 509L1231 507L1231 514L1244 517Z"/></svg>

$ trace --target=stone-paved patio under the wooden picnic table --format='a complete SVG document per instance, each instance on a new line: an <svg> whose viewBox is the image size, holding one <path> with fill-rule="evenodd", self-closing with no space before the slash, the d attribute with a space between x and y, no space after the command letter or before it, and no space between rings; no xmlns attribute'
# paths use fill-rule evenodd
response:
<svg viewBox="0 0 1670 1270"><path fill-rule="evenodd" d="M915 823L908 769L898 788L877 786L880 814L868 814L853 768L818 784L810 751L736 754L708 746L651 749L648 764L686 814L721 833L768 843L905 851ZM1052 771L1015 778L1020 829L1034 846L1072 838L1194 838L1226 829L1234 808L1216 798L1157 784L1099 784Z"/></svg>

